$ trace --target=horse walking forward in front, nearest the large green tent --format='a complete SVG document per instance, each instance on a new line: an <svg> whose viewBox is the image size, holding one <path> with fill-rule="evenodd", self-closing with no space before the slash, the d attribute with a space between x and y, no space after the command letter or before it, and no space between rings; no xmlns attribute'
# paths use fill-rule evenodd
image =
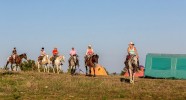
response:
<svg viewBox="0 0 186 100"><path fill-rule="evenodd" d="M138 68L138 58L136 55L128 55L127 60L125 61L125 66L129 73L130 83L134 84L134 75Z"/></svg>

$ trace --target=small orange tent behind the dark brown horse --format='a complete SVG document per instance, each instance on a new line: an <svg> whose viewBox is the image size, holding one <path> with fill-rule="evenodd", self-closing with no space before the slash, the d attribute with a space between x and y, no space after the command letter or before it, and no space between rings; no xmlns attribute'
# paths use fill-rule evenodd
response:
<svg viewBox="0 0 186 100"><path fill-rule="evenodd" d="M107 72L105 71L105 68L102 67L102 66L99 65L99 64L96 65L95 74L96 74L96 75L107 76ZM94 70L93 70L93 68L91 68L91 75L94 75Z"/></svg>

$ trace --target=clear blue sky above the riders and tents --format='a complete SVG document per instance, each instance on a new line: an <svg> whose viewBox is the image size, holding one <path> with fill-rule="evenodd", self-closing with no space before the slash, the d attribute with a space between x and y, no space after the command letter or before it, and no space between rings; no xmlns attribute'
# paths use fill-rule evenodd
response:
<svg viewBox="0 0 186 100"><path fill-rule="evenodd" d="M83 58L91 44L99 64L120 73L130 41L140 64L148 53L186 54L185 0L0 0L0 66L13 47L37 60L41 47Z"/></svg>

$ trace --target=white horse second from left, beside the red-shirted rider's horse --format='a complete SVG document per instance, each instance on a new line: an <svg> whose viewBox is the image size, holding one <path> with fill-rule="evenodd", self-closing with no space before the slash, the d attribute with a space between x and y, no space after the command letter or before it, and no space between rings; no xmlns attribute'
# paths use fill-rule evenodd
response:
<svg viewBox="0 0 186 100"><path fill-rule="evenodd" d="M49 64L50 64L49 57L48 57L48 55L45 55L41 61L39 61L39 60L37 61L38 72L40 72L40 67L42 67L44 65L44 72L49 73L49 68L48 68Z"/></svg>

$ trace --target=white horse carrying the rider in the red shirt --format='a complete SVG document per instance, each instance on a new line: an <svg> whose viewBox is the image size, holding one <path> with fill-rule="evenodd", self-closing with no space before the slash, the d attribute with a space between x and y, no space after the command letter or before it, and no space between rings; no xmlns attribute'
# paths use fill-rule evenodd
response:
<svg viewBox="0 0 186 100"><path fill-rule="evenodd" d="M50 61L52 61L52 59L53 59L53 56L50 57ZM63 65L63 62L65 62L65 57L64 56L61 55L61 56L56 57L56 60L54 61L54 64L52 64L53 73L55 73L54 68L56 67L57 73L59 74L59 72L61 70L61 66Z"/></svg>

